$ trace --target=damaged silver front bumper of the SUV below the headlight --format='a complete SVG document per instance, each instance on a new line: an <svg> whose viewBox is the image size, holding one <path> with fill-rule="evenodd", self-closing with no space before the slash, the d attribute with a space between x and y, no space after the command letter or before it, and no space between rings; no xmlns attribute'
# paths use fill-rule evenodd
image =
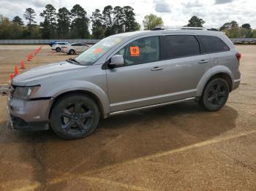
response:
<svg viewBox="0 0 256 191"><path fill-rule="evenodd" d="M8 97L7 116L10 126L17 130L46 130L52 98L26 101Z"/></svg>

